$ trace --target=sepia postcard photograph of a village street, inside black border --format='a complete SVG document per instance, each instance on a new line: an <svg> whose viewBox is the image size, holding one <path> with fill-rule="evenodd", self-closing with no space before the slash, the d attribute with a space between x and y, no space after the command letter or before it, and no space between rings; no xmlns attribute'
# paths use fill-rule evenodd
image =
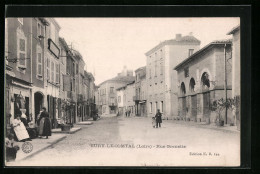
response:
<svg viewBox="0 0 260 174"><path fill-rule="evenodd" d="M239 17L6 17L5 166L239 167Z"/></svg>

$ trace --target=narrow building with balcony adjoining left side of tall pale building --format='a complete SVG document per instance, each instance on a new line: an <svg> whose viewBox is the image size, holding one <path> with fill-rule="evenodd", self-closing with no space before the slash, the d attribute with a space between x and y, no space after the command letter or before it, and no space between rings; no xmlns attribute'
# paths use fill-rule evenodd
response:
<svg viewBox="0 0 260 174"><path fill-rule="evenodd" d="M137 116L147 116L147 83L146 67L140 67L135 70L135 111Z"/></svg>

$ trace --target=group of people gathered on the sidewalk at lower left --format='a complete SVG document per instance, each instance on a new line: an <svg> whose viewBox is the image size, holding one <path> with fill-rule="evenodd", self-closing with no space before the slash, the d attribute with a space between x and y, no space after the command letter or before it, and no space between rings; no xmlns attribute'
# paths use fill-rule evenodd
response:
<svg viewBox="0 0 260 174"><path fill-rule="evenodd" d="M46 139L51 136L51 121L46 108L43 107L36 121L36 129L29 127L30 120L27 119L24 112L17 114L11 122L11 131L5 139L6 161L14 161L19 146L15 145L15 141L25 142L32 141L33 138L43 136Z"/></svg>

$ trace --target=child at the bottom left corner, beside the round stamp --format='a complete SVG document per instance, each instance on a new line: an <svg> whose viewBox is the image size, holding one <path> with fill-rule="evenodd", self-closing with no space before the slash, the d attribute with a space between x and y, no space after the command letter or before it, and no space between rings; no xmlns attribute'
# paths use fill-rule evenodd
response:
<svg viewBox="0 0 260 174"><path fill-rule="evenodd" d="M16 153L20 149L19 146L14 145L14 134L10 133L5 138L5 149L6 149L6 161L14 161L16 159Z"/></svg>

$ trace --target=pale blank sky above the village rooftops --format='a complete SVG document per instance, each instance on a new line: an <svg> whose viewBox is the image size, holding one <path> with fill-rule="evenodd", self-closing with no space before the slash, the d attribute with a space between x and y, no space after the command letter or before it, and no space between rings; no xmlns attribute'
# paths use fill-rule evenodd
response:
<svg viewBox="0 0 260 174"><path fill-rule="evenodd" d="M146 65L145 53L176 34L193 36L200 48L226 35L240 24L239 18L55 18L60 37L78 50L85 70L95 75L95 83L115 77L127 69Z"/></svg>

